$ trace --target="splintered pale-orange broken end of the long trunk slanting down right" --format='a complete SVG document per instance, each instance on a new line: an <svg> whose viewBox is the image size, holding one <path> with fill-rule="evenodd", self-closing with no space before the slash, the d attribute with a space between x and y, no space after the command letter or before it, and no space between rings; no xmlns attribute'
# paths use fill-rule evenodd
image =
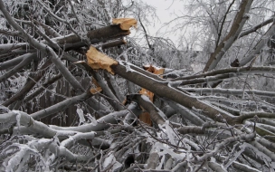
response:
<svg viewBox="0 0 275 172"><path fill-rule="evenodd" d="M117 65L118 62L110 58L104 53L100 53L95 47L90 46L90 50L86 53L88 64L94 70L104 69L111 74L115 74L110 68L111 65Z"/></svg>

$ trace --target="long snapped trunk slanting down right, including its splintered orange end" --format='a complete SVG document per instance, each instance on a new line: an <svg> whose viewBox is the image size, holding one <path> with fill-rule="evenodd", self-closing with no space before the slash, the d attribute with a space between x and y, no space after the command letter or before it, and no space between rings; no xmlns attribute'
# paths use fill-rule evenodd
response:
<svg viewBox="0 0 275 172"><path fill-rule="evenodd" d="M204 115L211 119L221 122L224 122L225 119L230 124L242 123L240 118L173 88L168 81L159 78L153 73L146 72L127 62L117 62L109 56L98 52L94 47L90 47L87 59L88 64L93 69L104 69L112 74L118 74L159 97L173 100L188 109L201 110Z"/></svg>

